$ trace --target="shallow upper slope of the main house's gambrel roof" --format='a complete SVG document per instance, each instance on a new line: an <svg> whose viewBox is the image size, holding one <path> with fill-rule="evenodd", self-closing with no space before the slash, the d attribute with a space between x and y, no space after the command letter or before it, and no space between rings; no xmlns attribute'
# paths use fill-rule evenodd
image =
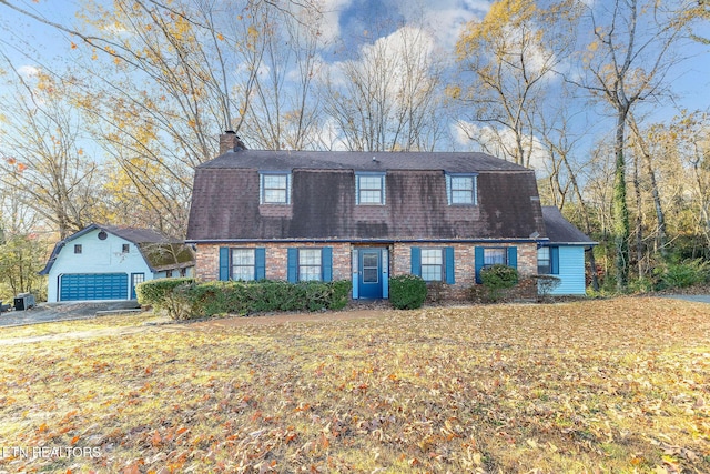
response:
<svg viewBox="0 0 710 474"><path fill-rule="evenodd" d="M374 158L374 160L373 160ZM475 152L331 152L240 150L224 153L197 169L253 170L444 170L450 173L521 171L527 168Z"/></svg>

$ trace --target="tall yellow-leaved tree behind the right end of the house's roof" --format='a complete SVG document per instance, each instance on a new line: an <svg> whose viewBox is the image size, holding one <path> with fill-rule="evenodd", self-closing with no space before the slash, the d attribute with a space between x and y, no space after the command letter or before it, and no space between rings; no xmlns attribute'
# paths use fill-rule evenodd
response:
<svg viewBox="0 0 710 474"><path fill-rule="evenodd" d="M571 0L548 6L500 0L483 20L466 26L456 43L462 75L448 92L464 104L469 121L489 131L469 134L471 140L530 165L537 117L548 88L561 80L578 12ZM495 143L481 142L490 134Z"/></svg>

